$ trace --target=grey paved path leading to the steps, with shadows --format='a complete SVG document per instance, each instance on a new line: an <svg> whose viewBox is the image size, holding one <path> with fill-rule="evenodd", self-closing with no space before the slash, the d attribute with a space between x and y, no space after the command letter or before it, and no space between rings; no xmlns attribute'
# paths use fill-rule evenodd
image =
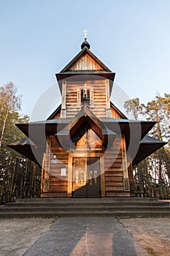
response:
<svg viewBox="0 0 170 256"><path fill-rule="evenodd" d="M147 256L115 218L60 218L24 256Z"/></svg>

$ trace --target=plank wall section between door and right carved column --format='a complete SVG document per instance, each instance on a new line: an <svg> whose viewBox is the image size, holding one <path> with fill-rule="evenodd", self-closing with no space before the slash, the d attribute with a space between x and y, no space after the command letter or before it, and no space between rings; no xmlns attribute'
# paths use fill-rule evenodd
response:
<svg viewBox="0 0 170 256"><path fill-rule="evenodd" d="M117 135L112 148L104 154L106 197L116 197L123 194L123 170L120 136Z"/></svg>

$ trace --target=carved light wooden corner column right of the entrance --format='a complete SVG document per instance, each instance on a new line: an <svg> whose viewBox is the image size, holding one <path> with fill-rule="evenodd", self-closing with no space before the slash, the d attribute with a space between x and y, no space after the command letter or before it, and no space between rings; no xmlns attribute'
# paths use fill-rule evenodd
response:
<svg viewBox="0 0 170 256"><path fill-rule="evenodd" d="M127 161L126 148L125 148L125 135L122 135L121 150L122 150L123 188L124 188L124 192L130 192L129 178L128 178L128 161Z"/></svg>

